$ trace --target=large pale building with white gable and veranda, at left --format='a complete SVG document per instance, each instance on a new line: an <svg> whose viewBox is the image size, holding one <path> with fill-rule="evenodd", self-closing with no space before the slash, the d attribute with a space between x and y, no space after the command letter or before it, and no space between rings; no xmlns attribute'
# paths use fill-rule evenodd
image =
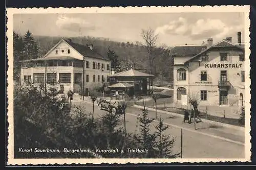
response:
<svg viewBox="0 0 256 170"><path fill-rule="evenodd" d="M110 75L110 60L98 54L93 45L81 45L61 39L42 58L21 61L21 84L54 86L88 95L91 87L103 86ZM82 85L83 84L83 85ZM84 90L81 90L81 88Z"/></svg>

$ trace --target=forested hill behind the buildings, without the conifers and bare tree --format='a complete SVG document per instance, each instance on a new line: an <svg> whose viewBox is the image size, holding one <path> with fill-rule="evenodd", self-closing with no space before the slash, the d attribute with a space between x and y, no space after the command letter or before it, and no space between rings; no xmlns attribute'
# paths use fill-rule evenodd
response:
<svg viewBox="0 0 256 170"><path fill-rule="evenodd" d="M68 37L47 37L34 36L35 41L38 42L40 57L44 56L61 38ZM70 38L70 37L69 37ZM147 50L141 42L116 42L106 38L97 37L71 37L73 42L89 45L93 44L94 49L101 55L107 55L110 48L118 55L118 60L122 66L133 66L135 69L148 70ZM159 47L154 50L153 55L156 56L154 60L153 73L161 77L173 77L173 59L168 56L169 50L165 47Z"/></svg>

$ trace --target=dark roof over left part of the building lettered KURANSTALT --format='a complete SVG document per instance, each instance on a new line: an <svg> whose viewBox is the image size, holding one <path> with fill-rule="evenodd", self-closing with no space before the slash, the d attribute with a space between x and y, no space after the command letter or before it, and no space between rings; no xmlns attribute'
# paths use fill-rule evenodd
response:
<svg viewBox="0 0 256 170"><path fill-rule="evenodd" d="M170 56L195 56L207 48L207 45L183 45L170 49Z"/></svg>

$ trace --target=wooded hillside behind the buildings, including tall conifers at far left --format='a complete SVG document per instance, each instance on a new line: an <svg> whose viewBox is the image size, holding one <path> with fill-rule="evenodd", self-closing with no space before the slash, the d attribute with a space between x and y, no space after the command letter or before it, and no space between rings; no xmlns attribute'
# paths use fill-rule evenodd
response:
<svg viewBox="0 0 256 170"><path fill-rule="evenodd" d="M145 33L147 30L144 30ZM143 31L142 31L143 33ZM143 34L142 34L143 36ZM27 37L27 38L26 38ZM48 37L32 36L29 31L25 36L14 33L14 63L15 65L21 59L31 59L44 57L44 55L61 39L70 38L73 42L91 45L94 50L101 55L108 56L108 52L114 53L120 66L133 67L157 77L163 77L167 80L173 78L173 59L168 56L169 49L166 45L155 46L157 37L153 44L145 42L116 42L108 38L101 37ZM16 47L15 47L16 46ZM30 53L28 53L30 47ZM18 57L22 56L22 57ZM37 57L36 57L37 56ZM16 72L19 72L18 70ZM18 76L17 76L18 78ZM18 80L18 79L17 79Z"/></svg>

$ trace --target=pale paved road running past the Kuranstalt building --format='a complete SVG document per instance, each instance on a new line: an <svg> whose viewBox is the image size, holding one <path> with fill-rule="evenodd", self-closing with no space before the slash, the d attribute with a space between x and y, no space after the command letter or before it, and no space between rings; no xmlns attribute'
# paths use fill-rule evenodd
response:
<svg viewBox="0 0 256 170"><path fill-rule="evenodd" d="M87 102L73 101L73 104L79 104L86 108L88 112L92 111L92 104ZM132 133L139 132L138 115L141 111L138 108L128 107L126 110L126 130ZM95 117L100 117L105 111L95 107ZM155 117L155 112L149 111L149 117ZM158 116L164 119L164 123L170 128L167 133L176 138L173 147L173 153L180 152L181 148L181 128L183 128L183 158L244 158L245 147L244 132L223 128L211 127L206 123L199 123L197 130L194 130L194 124L183 123L182 117L171 116L164 113L158 113ZM123 123L123 116L120 117ZM154 126L157 122L152 123L152 132L155 131ZM121 125L123 126L123 125Z"/></svg>

